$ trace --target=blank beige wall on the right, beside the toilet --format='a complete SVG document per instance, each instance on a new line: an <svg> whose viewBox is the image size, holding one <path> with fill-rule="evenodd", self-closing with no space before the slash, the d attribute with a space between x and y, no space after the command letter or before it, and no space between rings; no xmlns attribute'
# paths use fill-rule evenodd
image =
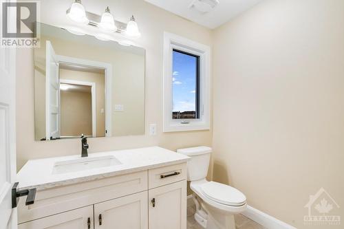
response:
<svg viewBox="0 0 344 229"><path fill-rule="evenodd" d="M270 0L214 32L214 179L297 228L343 228L303 225L321 187L344 215L343 23L342 0Z"/></svg>

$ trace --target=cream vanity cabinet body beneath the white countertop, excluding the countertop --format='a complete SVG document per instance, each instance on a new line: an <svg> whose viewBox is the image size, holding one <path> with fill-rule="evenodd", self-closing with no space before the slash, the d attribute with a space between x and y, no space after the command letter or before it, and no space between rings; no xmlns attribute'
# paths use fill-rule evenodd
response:
<svg viewBox="0 0 344 229"><path fill-rule="evenodd" d="M19 229L186 229L186 162L38 190Z"/></svg>

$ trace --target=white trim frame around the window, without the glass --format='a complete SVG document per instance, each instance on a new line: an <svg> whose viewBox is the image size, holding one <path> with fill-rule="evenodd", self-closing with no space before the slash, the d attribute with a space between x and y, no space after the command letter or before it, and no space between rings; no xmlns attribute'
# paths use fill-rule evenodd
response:
<svg viewBox="0 0 344 229"><path fill-rule="evenodd" d="M173 120L173 49L200 56L200 118ZM207 45L185 39L182 36L164 32L164 79L163 79L164 132L199 131L210 129L211 117L211 48Z"/></svg>

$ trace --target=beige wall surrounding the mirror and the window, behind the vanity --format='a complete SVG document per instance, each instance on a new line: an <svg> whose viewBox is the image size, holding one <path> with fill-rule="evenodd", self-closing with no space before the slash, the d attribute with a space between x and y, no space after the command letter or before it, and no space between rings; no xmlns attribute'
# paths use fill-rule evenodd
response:
<svg viewBox="0 0 344 229"><path fill-rule="evenodd" d="M181 147L211 146L211 131L162 133L162 47L163 32L211 45L211 30L182 19L142 0L87 1L83 4L92 12L103 12L105 6L116 9L116 19L127 21L136 16L142 37L138 45L146 50L144 135L113 138L90 138L89 152L129 149L142 146L163 146L175 150ZM50 5L50 6L47 6ZM41 1L41 20L54 25L55 19L65 19L69 0ZM115 12L115 11L114 11ZM54 17L50 17L54 15ZM173 22L173 23L172 23ZM56 23L56 21L55 21ZM72 155L80 153L80 140L34 141L34 54L33 50L17 52L17 166L34 158ZM158 134L149 135L149 124L158 124Z"/></svg>

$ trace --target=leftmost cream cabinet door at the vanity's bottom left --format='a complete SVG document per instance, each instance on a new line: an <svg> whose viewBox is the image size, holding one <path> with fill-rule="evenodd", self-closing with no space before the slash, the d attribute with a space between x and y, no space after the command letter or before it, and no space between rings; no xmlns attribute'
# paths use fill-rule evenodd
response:
<svg viewBox="0 0 344 229"><path fill-rule="evenodd" d="M21 223L18 229L93 229L93 206Z"/></svg>

